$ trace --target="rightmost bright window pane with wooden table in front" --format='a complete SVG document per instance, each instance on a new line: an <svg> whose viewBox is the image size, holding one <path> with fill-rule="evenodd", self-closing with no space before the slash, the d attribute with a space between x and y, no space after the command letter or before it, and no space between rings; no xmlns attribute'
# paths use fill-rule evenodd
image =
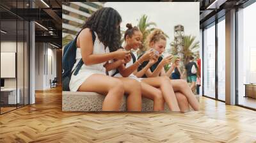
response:
<svg viewBox="0 0 256 143"><path fill-rule="evenodd" d="M256 3L239 10L237 13L238 104L253 109L256 109L256 19L253 19L255 13Z"/></svg>

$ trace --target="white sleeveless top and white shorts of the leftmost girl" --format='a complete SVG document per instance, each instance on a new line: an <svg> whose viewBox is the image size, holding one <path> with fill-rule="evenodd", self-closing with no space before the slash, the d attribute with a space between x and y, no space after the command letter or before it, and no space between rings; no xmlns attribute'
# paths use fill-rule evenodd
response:
<svg viewBox="0 0 256 143"><path fill-rule="evenodd" d="M95 33L95 41L93 44L93 54L105 54L109 52L109 47L106 47L104 49L103 43L99 41L99 38L97 36L97 33ZM73 66L73 69L76 67L77 63L79 63L80 59L82 58L81 56L81 49L77 48L76 50L76 63ZM69 83L69 88L70 91L77 91L79 87L83 84L83 82L90 77L93 74L102 74L106 75L106 68L104 68L105 63L100 63L100 64L92 64L92 65L85 65L81 67L77 75L72 74L70 83Z"/></svg>

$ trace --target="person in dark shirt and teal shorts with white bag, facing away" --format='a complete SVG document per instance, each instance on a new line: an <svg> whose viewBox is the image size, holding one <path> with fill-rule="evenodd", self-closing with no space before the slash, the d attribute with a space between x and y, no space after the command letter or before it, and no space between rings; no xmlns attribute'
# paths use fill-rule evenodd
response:
<svg viewBox="0 0 256 143"><path fill-rule="evenodd" d="M187 72L187 80L189 83L191 83L191 90L194 92L195 91L195 86L196 86L196 73L197 73L197 65L196 63L193 61L194 57L191 56L189 57L189 63L186 64L185 69Z"/></svg>

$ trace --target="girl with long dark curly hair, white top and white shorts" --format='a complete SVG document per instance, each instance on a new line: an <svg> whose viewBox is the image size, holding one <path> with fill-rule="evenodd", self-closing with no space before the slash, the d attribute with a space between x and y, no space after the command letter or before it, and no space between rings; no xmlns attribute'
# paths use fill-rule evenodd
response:
<svg viewBox="0 0 256 143"><path fill-rule="evenodd" d="M129 56L129 52L117 50L120 43L121 21L119 13L113 8L101 8L86 20L76 43L77 62L83 59L84 64L77 75L72 75L69 87L71 91L97 92L106 95L102 105L103 111L118 111L125 93L128 95L127 110L140 111L140 83L132 79L109 77L104 67L110 60ZM92 32L96 36L94 43ZM131 90L129 87L132 85L138 87Z"/></svg>

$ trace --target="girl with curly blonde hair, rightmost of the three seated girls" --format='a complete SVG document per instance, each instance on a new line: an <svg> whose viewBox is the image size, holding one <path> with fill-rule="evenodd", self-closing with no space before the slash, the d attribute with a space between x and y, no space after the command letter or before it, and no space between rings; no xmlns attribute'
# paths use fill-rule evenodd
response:
<svg viewBox="0 0 256 143"><path fill-rule="evenodd" d="M150 59L149 61L145 61L138 68L138 71L145 70L145 75L143 77L166 77L170 81L172 88L175 92L180 92L186 96L185 100L191 105L194 110L199 110L199 103L196 100L195 94L191 91L188 83L185 80L170 80L170 74L172 73L175 63L172 64L172 67L168 72L164 71L164 65L170 64L173 56L161 57L166 47L166 36L163 31L160 29L155 29L150 33L146 40L146 46L148 49L154 49L159 53L159 56L154 59ZM143 57L143 54L138 57L140 59ZM151 66L148 66L148 63L154 63ZM188 110L189 106L187 105L184 110Z"/></svg>

